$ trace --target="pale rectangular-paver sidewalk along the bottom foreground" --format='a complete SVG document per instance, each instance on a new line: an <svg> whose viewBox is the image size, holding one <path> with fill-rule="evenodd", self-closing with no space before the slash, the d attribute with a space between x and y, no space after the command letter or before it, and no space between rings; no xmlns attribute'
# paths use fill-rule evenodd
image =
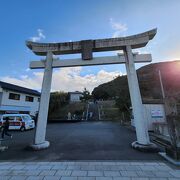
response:
<svg viewBox="0 0 180 180"><path fill-rule="evenodd" d="M164 162L0 162L0 180L178 180L180 170Z"/></svg>

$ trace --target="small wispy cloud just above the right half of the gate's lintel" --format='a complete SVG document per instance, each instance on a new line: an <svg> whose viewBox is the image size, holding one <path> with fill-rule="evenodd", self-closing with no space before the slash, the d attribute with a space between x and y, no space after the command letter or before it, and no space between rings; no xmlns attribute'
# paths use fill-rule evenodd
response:
<svg viewBox="0 0 180 180"><path fill-rule="evenodd" d="M115 22L113 18L110 18L110 25L115 30L112 37L124 36L124 32L128 30L126 24Z"/></svg>

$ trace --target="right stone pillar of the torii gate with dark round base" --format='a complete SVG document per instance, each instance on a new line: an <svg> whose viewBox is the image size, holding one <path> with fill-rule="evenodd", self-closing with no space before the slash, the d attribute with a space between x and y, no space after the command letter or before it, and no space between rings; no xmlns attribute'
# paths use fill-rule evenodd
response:
<svg viewBox="0 0 180 180"><path fill-rule="evenodd" d="M152 146L152 143L150 143L149 141L146 119L144 119L144 107L142 105L142 99L141 99L139 83L137 79L131 46L126 46L124 48L124 55L126 59L127 79L128 79L132 109L134 113L134 122L136 128L136 136L137 136L137 141L133 142L132 146L133 148L137 148L137 149L139 148L144 149L144 147L146 149L147 146Z"/></svg>

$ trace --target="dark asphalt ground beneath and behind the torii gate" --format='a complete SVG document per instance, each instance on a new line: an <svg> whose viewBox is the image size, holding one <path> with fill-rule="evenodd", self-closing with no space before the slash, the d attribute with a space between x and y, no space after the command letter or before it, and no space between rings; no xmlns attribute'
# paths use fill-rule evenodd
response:
<svg viewBox="0 0 180 180"><path fill-rule="evenodd" d="M33 152L26 146L33 140L33 132L12 132L9 149L0 153L7 161L60 160L161 160L158 154L142 153L130 147L135 132L113 122L54 123L47 126L47 150Z"/></svg>

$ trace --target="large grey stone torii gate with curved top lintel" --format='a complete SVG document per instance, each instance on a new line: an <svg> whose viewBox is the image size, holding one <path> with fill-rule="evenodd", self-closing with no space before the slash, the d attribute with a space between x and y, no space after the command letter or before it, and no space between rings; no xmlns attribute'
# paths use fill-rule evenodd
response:
<svg viewBox="0 0 180 180"><path fill-rule="evenodd" d="M156 146L153 143L150 143L149 140L135 70L135 63L151 62L151 54L132 53L132 49L146 46L149 40L153 39L153 37L156 35L156 31L157 29L153 29L128 37L83 40L64 43L36 43L27 41L27 47L36 55L46 56L45 60L30 62L31 69L44 69L35 139L34 144L31 147L34 150L40 150L48 148L50 145L50 143L45 140L45 136L53 68L125 63L137 136L137 141L132 143L132 147L143 150L156 148ZM124 53L118 54L117 56L93 57L93 52L114 50L123 50ZM82 58L69 60L53 58L53 55L75 53L81 53Z"/></svg>

